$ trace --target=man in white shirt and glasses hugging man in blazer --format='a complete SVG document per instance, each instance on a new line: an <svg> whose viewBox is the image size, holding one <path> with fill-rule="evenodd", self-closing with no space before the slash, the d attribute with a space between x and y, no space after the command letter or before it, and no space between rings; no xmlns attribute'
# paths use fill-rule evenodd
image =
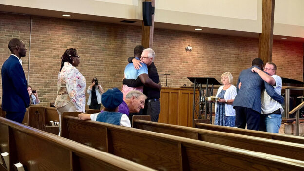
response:
<svg viewBox="0 0 304 171"><path fill-rule="evenodd" d="M276 75L277 66L272 62L267 62L264 71L257 68L253 68L252 72L256 72L261 76L261 78L268 84L274 87L277 94L281 95L282 89L282 79L280 76ZM283 113L283 108L280 103L272 99L264 90L261 94L261 104L262 112L260 119L260 131L266 131L270 133L279 133L279 128L281 126L281 114Z"/></svg>

